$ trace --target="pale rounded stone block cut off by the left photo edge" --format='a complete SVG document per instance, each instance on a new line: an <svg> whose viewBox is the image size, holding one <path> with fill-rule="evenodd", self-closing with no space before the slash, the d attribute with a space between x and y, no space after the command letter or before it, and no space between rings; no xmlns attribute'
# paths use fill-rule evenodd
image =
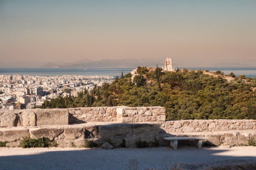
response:
<svg viewBox="0 0 256 170"><path fill-rule="evenodd" d="M18 116L13 112L6 112L0 116L0 127L17 126Z"/></svg>

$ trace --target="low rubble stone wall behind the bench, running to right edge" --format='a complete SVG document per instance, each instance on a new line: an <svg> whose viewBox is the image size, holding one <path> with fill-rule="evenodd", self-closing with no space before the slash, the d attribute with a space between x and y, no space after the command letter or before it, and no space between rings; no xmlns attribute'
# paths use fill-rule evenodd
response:
<svg viewBox="0 0 256 170"><path fill-rule="evenodd" d="M175 120L161 127L166 133L196 133L228 130L256 130L256 120Z"/></svg>

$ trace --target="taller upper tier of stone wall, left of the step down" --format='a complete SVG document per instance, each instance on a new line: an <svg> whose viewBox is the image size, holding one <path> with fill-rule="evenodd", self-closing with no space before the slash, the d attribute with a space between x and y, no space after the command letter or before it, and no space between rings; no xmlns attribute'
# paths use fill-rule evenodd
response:
<svg viewBox="0 0 256 170"><path fill-rule="evenodd" d="M0 127L165 121L164 107L80 107L0 112Z"/></svg>

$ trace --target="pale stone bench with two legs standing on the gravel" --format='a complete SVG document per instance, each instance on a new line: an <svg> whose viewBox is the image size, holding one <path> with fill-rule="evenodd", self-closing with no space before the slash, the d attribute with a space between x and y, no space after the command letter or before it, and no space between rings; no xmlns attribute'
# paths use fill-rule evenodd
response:
<svg viewBox="0 0 256 170"><path fill-rule="evenodd" d="M177 150L178 140L195 140L195 145L200 149L202 147L202 140L208 138L205 137L168 137L164 138L165 140L170 140L170 145L174 150Z"/></svg>

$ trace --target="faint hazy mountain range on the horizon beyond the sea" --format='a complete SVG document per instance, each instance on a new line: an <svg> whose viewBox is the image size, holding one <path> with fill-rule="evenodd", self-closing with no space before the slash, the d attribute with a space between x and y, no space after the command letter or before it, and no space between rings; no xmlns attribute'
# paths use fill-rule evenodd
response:
<svg viewBox="0 0 256 170"><path fill-rule="evenodd" d="M87 58L83 60L78 60L74 62L38 62L38 61L15 61L15 62L1 62L0 67L44 67L44 68L111 68L111 67L138 67L138 66L147 66L147 67L159 67L164 66L164 58L157 59L136 59L136 58L126 58L119 60L98 60L92 61ZM207 60L183 60L182 58L174 58L172 60L173 67L255 67L253 63L256 60L251 62L244 61L243 63L239 62L219 62L213 61L209 62Z"/></svg>

